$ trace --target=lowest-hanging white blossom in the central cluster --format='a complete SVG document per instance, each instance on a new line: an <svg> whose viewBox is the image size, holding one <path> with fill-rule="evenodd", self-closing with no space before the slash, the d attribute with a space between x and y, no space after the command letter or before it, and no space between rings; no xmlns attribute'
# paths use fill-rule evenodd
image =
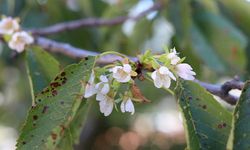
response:
<svg viewBox="0 0 250 150"><path fill-rule="evenodd" d="M99 106L100 106L100 112L104 114L104 116L109 116L111 112L113 111L114 102L113 99L110 98L107 95L103 95L103 99L100 100Z"/></svg>

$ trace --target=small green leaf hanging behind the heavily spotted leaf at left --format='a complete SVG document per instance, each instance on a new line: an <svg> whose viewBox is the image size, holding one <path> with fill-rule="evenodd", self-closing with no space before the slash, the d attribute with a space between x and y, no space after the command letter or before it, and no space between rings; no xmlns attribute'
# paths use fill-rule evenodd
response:
<svg viewBox="0 0 250 150"><path fill-rule="evenodd" d="M59 62L40 47L26 51L26 68L29 75L32 98L42 91L60 71Z"/></svg>

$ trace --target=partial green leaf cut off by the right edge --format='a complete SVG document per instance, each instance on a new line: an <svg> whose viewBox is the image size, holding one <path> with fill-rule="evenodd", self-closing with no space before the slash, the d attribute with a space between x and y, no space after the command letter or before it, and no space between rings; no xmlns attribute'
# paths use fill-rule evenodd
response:
<svg viewBox="0 0 250 150"><path fill-rule="evenodd" d="M250 126L249 126L249 113L250 113L250 81L246 82L242 90L240 100L238 101L234 114L233 126L228 140L227 149L250 149Z"/></svg>

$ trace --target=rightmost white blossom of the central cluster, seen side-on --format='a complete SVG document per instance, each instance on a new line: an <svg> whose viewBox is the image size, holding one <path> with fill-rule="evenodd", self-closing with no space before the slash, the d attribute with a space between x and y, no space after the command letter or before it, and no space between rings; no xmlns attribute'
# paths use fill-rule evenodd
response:
<svg viewBox="0 0 250 150"><path fill-rule="evenodd" d="M192 70L193 68L186 63L176 65L177 75L185 80L194 80L194 75L196 75L196 73Z"/></svg>

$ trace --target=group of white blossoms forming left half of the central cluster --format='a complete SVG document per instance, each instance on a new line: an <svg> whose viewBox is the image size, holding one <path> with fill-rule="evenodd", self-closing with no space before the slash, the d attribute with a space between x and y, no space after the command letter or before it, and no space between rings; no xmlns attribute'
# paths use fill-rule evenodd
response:
<svg viewBox="0 0 250 150"><path fill-rule="evenodd" d="M95 83L95 73L92 71L89 81L85 86L84 97L89 98L96 95L96 100L99 102L101 113L103 113L104 116L108 116L111 114L114 105L116 104L114 99L118 87L114 88L115 84L130 84L130 82L132 82L131 76L136 76L136 72L132 70L132 67L129 64L113 67L107 75L99 76L98 83ZM131 114L134 114L135 108L132 102L132 95L125 92L120 99L122 100L120 105L121 112L130 112Z"/></svg>

